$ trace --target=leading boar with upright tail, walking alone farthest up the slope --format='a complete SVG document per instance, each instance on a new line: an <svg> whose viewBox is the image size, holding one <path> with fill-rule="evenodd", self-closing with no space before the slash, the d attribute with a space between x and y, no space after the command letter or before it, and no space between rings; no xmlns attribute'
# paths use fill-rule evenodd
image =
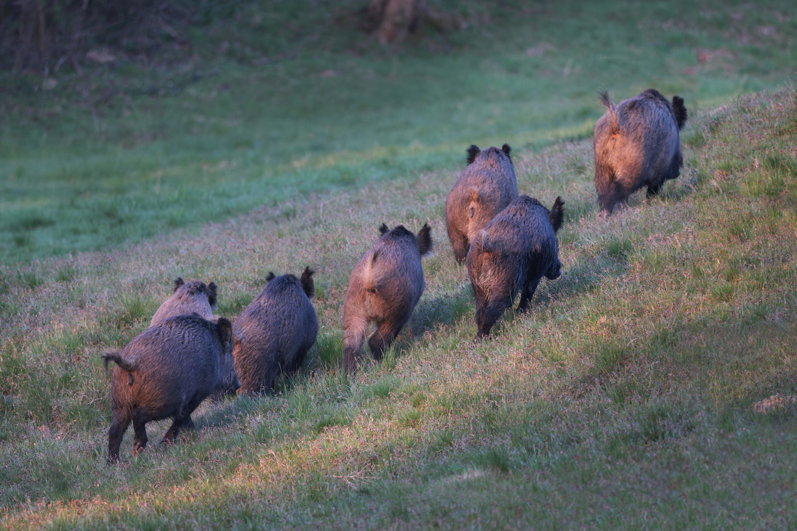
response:
<svg viewBox="0 0 797 531"><path fill-rule="evenodd" d="M601 103L607 111L595 123L595 190L607 217L615 203L647 186L647 196L681 174L684 158L678 131L686 123L684 100L669 103L650 88L615 105L606 92Z"/></svg>

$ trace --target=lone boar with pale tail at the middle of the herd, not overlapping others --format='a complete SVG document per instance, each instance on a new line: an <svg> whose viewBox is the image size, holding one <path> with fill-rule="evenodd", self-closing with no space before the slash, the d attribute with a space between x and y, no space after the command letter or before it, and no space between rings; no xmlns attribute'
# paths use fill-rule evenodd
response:
<svg viewBox="0 0 797 531"><path fill-rule="evenodd" d="M426 224L418 236L398 225L379 227L382 236L351 271L344 299L344 363L352 372L371 322L376 331L368 341L374 359L382 354L410 318L421 299L421 257L432 252L432 228Z"/></svg>

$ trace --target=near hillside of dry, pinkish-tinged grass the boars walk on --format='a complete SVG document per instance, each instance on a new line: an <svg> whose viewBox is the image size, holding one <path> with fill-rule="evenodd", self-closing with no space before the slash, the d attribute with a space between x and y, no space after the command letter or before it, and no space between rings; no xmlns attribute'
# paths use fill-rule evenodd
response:
<svg viewBox="0 0 797 531"><path fill-rule="evenodd" d="M795 140L792 90L693 116L683 176L607 223L589 140L519 150L521 192L567 201L564 274L478 345L442 225L455 171L36 264L41 283L4 299L2 524L791 527L797 410L751 404L797 394ZM410 326L382 364L342 377L348 271L379 222L427 220L437 253ZM138 459L128 433L124 464L106 467L97 353L143 330L169 279L214 279L232 317L267 271L305 264L321 330L302 372L277 396L203 404L198 431Z"/></svg>

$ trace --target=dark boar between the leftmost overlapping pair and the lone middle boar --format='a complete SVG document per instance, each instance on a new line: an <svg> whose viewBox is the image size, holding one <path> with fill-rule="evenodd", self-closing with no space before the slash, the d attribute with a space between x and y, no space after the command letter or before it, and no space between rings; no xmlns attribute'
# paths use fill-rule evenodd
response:
<svg viewBox="0 0 797 531"><path fill-rule="evenodd" d="M310 302L313 272L305 267L301 279L269 273L261 294L235 320L239 394L271 390L277 374L296 372L316 342L318 319Z"/></svg>

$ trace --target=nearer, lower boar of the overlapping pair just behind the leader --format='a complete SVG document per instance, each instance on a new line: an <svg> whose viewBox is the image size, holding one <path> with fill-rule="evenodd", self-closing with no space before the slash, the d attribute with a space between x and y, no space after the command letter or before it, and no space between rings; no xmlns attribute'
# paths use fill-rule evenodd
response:
<svg viewBox="0 0 797 531"><path fill-rule="evenodd" d="M468 275L476 299L477 338L490 329L520 291L518 311L528 309L543 275L561 274L559 242L564 201L556 197L550 211L540 201L518 196L478 234L468 252Z"/></svg>

